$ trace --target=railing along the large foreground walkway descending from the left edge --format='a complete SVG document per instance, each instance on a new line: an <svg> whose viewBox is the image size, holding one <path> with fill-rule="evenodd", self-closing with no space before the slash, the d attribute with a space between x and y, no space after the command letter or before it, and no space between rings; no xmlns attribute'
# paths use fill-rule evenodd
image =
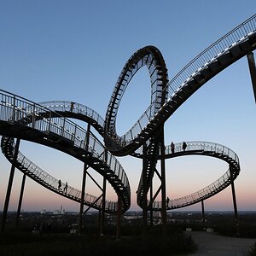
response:
<svg viewBox="0 0 256 256"><path fill-rule="evenodd" d="M106 157L104 145L91 132L87 144L87 131L61 115L55 117L56 113L52 115L48 108L4 90L0 90L0 99L1 120L26 125L26 127L44 132L46 135L52 132L72 142L73 146L86 149L95 158L106 163L114 175L119 178L130 196L130 184L123 167L109 152Z"/></svg>

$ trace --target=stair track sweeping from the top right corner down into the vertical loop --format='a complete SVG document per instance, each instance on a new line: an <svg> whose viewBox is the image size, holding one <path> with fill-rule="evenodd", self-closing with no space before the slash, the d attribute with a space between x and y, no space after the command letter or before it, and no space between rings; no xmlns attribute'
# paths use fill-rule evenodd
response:
<svg viewBox="0 0 256 256"><path fill-rule="evenodd" d="M151 46L146 48L151 49ZM105 137L105 143L108 149L115 155L131 154L142 146L145 140L154 134L160 125L163 125L172 113L203 84L206 84L208 80L212 79L224 70L224 68L229 67L232 63L256 49L256 15L241 23L240 26L237 26L231 32L224 35L223 38L218 39L218 41L202 51L200 55L197 55L195 59L183 67L168 82L162 92L158 94L157 99L166 99L164 104L158 106L160 108L159 111L155 113L155 106L160 103L156 99L140 119L137 120L137 123L125 135L119 137L115 132L116 113L118 112L121 96L131 80L128 78L142 67L142 64L137 65L137 62L142 62L142 59L138 59L137 55L144 49L138 50L126 62L108 104L105 127L108 137ZM158 77L162 79L162 73L159 67L160 63L161 61L154 60L152 65L154 65L154 68L159 68ZM166 66L165 64L162 65L162 69L164 70ZM163 79L163 81L166 81L166 79ZM161 84L165 84L165 82L161 82Z"/></svg>

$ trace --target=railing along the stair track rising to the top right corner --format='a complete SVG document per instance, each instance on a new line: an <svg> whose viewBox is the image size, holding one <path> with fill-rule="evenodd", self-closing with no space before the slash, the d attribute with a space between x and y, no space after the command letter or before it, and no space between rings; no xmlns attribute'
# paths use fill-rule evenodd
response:
<svg viewBox="0 0 256 256"><path fill-rule="evenodd" d="M246 40L250 35L256 32L256 15L253 15L248 20L241 23L241 25L236 26L231 32L224 35L224 37L218 39L214 44L210 45L207 49L197 55L192 61L189 62L183 69L177 73L177 75L170 80L166 88L162 93L168 91L168 102L172 100L172 96L175 96L178 90L180 90L183 85L185 85L189 79L193 79L196 73L199 73L201 69L207 67L212 61L215 61L219 55L223 55L225 52L229 51L236 44L240 44L242 41ZM148 125L154 116L153 102L147 110L143 113L137 123L131 127L130 131L127 131L125 135L119 137L117 143L119 146L123 147L138 136L138 134L143 131L143 129Z"/></svg>

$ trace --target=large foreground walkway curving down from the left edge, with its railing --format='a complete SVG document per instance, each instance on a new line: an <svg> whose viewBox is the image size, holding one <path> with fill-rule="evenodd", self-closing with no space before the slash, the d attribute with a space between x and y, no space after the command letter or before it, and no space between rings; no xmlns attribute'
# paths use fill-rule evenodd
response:
<svg viewBox="0 0 256 256"><path fill-rule="evenodd" d="M9 160L12 159L13 141L6 137L19 137L61 150L83 161L103 177L106 177L108 183L121 196L123 211L129 209L131 191L125 171L119 161L106 151L104 145L91 132L88 133L60 114L19 96L1 90L0 97L2 150ZM20 171L24 172L26 166L18 165L17 167L20 167ZM29 172L27 173L29 174ZM33 178L32 175L31 177ZM41 182L40 179L37 181ZM45 185L44 183L41 184ZM50 188L60 194L60 191L56 188ZM78 200L74 198L74 201ZM89 201L84 203L90 207L99 207L95 203L89 203ZM113 211L113 209L110 211Z"/></svg>

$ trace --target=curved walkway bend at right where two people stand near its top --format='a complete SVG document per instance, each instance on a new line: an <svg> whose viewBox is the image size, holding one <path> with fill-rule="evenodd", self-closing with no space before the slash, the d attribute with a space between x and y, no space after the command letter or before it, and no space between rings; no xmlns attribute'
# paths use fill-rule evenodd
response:
<svg viewBox="0 0 256 256"><path fill-rule="evenodd" d="M218 194L221 190L228 187L232 180L236 179L240 172L239 159L237 154L223 145L218 143L208 143L208 142L188 142L188 147L186 150L182 149L183 143L175 144L175 151L172 153L171 146L166 147L166 159L175 158L178 156L185 155L205 155L220 160L224 160L229 164L229 170L224 173L222 177L219 177L217 181L211 183L207 187L196 191L193 194L185 195L181 198L173 199L168 201L166 208L167 209L177 209L181 207L188 207L199 201L205 200L212 195ZM137 154L137 157L143 158L142 154ZM230 177L232 175L232 177ZM141 179L142 180L142 179ZM142 182L140 182L137 189L137 204L142 207L143 204L143 189ZM159 210L161 208L160 201L154 201L153 204L150 204L148 201L148 207L153 210Z"/></svg>

